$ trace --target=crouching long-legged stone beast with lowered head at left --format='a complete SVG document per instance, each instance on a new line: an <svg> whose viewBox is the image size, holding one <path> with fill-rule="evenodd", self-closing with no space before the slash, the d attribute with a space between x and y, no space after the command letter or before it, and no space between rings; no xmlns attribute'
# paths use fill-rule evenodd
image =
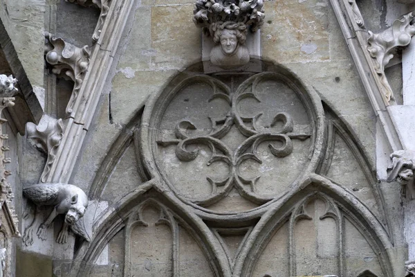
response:
<svg viewBox="0 0 415 277"><path fill-rule="evenodd" d="M90 241L82 219L88 207L88 197L83 190L77 186L67 184L37 184L24 188L23 194L34 202L37 207L53 206L53 210L46 221L42 222L37 229L37 236L41 240L46 240L46 231L55 220L55 217L64 214L64 224L59 235L57 235L56 242L66 243L69 227L71 227L73 233L80 235L88 242ZM39 220L39 213L35 213L33 222L24 232L23 241L26 245L33 244L33 228L39 224Z"/></svg>

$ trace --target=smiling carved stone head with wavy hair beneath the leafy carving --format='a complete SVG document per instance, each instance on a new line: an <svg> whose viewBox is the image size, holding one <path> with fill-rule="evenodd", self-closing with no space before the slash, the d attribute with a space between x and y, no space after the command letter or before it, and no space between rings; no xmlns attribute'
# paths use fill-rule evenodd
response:
<svg viewBox="0 0 415 277"><path fill-rule="evenodd" d="M217 22L213 30L216 46L210 53L212 64L232 68L249 62L249 51L245 46L247 33L245 24L234 21Z"/></svg>

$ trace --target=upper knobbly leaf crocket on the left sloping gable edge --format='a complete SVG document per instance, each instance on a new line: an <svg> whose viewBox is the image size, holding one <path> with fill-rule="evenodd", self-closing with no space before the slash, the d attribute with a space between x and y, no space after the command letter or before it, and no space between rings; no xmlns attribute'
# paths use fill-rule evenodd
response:
<svg viewBox="0 0 415 277"><path fill-rule="evenodd" d="M71 99L66 106L66 113L71 114L89 66L89 48L73 46L50 33L45 33L45 38L45 59L52 66L52 72L75 82Z"/></svg>

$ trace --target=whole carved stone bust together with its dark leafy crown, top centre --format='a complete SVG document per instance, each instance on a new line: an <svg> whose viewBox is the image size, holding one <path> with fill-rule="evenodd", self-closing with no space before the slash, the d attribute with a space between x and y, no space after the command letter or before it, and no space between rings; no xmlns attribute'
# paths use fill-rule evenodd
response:
<svg viewBox="0 0 415 277"><path fill-rule="evenodd" d="M264 24L263 0L197 0L193 21L212 37L212 64L224 69L247 64L248 30L255 33Z"/></svg>

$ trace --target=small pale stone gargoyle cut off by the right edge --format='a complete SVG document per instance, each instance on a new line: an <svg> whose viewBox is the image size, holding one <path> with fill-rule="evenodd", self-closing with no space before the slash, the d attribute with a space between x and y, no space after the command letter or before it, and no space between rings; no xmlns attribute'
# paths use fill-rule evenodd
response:
<svg viewBox="0 0 415 277"><path fill-rule="evenodd" d="M408 199L415 199L415 152L398 150L393 152L390 158L391 165L388 167L387 181L398 181L403 186L403 195Z"/></svg>

